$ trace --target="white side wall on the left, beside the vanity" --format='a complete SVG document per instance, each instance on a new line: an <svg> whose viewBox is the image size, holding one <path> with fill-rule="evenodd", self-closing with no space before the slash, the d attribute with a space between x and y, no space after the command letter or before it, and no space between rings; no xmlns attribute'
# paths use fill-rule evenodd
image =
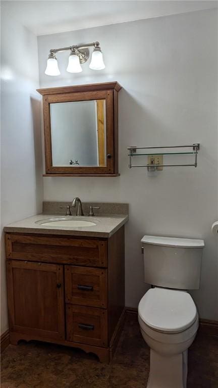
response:
<svg viewBox="0 0 218 388"><path fill-rule="evenodd" d="M1 333L8 328L3 227L41 211L37 38L1 13Z"/></svg>

